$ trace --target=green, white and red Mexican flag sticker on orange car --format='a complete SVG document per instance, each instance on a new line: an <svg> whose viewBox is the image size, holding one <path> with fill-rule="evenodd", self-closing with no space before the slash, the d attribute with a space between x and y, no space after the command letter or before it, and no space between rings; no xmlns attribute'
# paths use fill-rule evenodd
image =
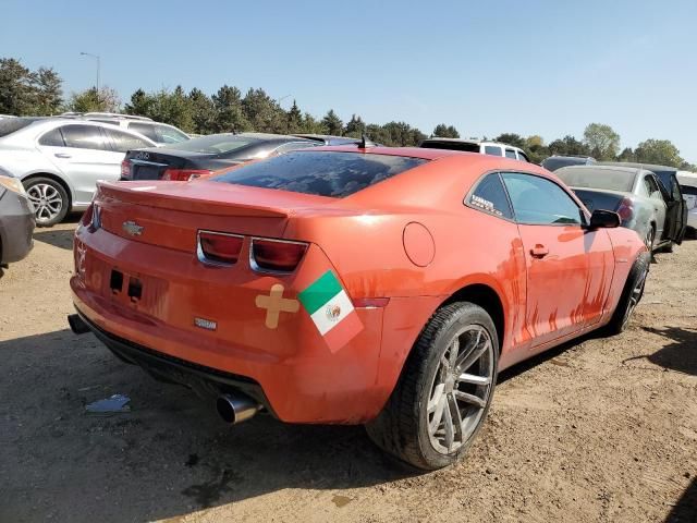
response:
<svg viewBox="0 0 697 523"><path fill-rule="evenodd" d="M302 291L297 299L309 313L331 352L337 352L363 330L348 294L331 270Z"/></svg>

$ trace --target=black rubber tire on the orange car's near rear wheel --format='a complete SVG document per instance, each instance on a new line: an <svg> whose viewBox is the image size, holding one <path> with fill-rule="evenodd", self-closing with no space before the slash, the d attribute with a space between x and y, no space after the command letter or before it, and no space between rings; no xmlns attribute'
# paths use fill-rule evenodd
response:
<svg viewBox="0 0 697 523"><path fill-rule="evenodd" d="M452 346L452 341L461 336L463 329L469 327L488 335L491 345L491 351L487 356L487 367L491 369L488 378L490 381L489 385L481 386L487 391L486 398L481 398L486 404L470 408L477 414L477 417L472 419L465 418L472 422L472 428L465 433L463 425L458 425L460 447L450 453L443 453L436 449L431 442L431 435L429 435L429 397L437 373L441 372L442 358L445 358L445 354ZM472 346L475 348L472 353L477 352L477 342ZM463 354L465 353L466 351L463 351ZM467 302L452 303L440 308L421 331L387 404L378 417L366 425L368 436L384 451L421 470L442 469L454 463L467 451L487 417L496 387L498 363L499 338L491 317L484 308ZM478 365L482 365L481 361ZM454 368L456 372L464 372L469 367ZM455 385L455 387L460 387L460 385ZM448 396L452 400L456 394L443 396ZM449 411L445 417L451 419L452 430L453 411L448 399L444 402L445 410ZM457 405L456 402L455 405ZM443 409L441 409L442 411ZM465 410L463 413L467 414L467 411ZM439 422L437 425L439 426Z"/></svg>

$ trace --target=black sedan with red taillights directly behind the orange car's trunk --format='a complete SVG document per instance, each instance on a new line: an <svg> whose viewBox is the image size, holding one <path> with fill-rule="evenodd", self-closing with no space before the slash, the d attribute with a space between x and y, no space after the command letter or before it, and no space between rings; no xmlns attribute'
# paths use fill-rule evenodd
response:
<svg viewBox="0 0 697 523"><path fill-rule="evenodd" d="M210 134L163 147L129 151L121 180L178 180L205 177L249 160L321 145L283 134Z"/></svg>

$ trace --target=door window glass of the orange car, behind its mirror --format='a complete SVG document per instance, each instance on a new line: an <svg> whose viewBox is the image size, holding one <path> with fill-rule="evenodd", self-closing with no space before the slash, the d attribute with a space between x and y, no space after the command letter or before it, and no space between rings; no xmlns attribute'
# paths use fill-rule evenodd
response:
<svg viewBox="0 0 697 523"><path fill-rule="evenodd" d="M549 226L585 222L580 208L554 182L517 172L504 172L502 178L519 223Z"/></svg>

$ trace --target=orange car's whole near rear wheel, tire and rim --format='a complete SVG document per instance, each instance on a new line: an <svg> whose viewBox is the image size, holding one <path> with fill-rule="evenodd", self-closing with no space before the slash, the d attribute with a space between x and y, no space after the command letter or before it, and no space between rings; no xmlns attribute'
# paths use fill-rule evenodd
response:
<svg viewBox="0 0 697 523"><path fill-rule="evenodd" d="M484 424L497 381L499 339L487 312L452 303L430 319L379 416L378 447L423 470L457 461Z"/></svg>

